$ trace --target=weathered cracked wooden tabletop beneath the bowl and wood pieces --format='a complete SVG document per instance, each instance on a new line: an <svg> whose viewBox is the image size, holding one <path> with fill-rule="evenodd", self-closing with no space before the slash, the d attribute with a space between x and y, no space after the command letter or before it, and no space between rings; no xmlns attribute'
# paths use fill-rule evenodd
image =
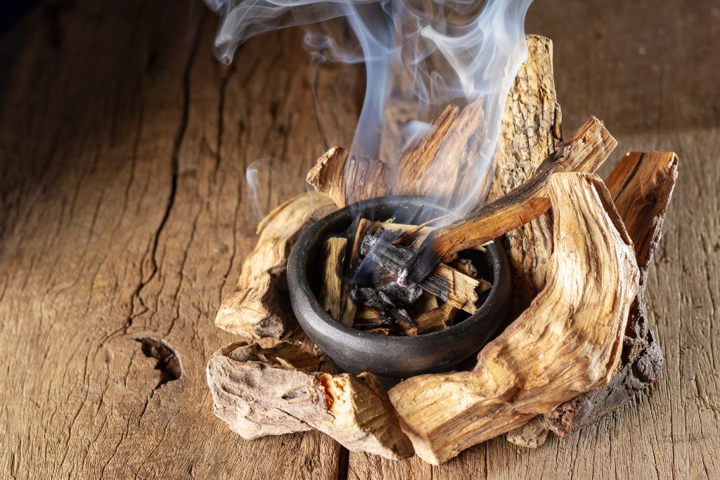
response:
<svg viewBox="0 0 720 480"><path fill-rule="evenodd" d="M718 478L720 5L541 1L565 131L588 114L626 150L675 150L680 178L650 273L665 373L597 425L523 450L504 438L443 466L350 453L318 433L241 440L212 414L212 323L267 208L348 145L361 71L308 68L301 33L220 65L192 1L52 1L0 44L0 476ZM318 122L310 81L318 83ZM603 173L609 171L606 166ZM263 170L265 171L265 170ZM265 178L265 177L263 177ZM142 339L181 362L165 379Z"/></svg>

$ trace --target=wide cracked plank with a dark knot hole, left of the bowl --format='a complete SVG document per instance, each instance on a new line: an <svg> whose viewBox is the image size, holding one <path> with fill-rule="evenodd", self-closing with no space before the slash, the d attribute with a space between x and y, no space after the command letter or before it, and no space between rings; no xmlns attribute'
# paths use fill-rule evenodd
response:
<svg viewBox="0 0 720 480"><path fill-rule="evenodd" d="M323 152L302 32L225 68L202 2L63 5L26 22L2 99L0 471L334 478L337 443L244 441L205 381L237 339L212 317L254 242L244 169L287 162L290 178L261 185L269 207ZM139 338L169 345L180 378L160 384Z"/></svg>

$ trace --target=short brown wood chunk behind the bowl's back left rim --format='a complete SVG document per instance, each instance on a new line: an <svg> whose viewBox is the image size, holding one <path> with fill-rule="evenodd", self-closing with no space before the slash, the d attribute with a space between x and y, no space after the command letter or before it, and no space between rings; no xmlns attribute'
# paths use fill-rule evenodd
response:
<svg viewBox="0 0 720 480"><path fill-rule="evenodd" d="M388 167L382 160L350 158L342 147L330 148L307 172L308 184L330 196L338 207L387 195Z"/></svg>

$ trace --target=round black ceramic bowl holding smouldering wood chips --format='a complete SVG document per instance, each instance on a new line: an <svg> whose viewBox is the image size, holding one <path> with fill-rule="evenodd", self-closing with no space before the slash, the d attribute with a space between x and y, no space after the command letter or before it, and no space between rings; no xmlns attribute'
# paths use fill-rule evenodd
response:
<svg viewBox="0 0 720 480"><path fill-rule="evenodd" d="M341 235L354 214L371 219L387 219L396 212L417 212L423 207L423 222L446 213L431 199L420 196L385 196L360 201L320 219L312 225L290 253L287 282L292 309L310 339L342 371L369 371L379 376L407 378L420 373L448 371L482 348L505 316L510 297L510 269L499 242L487 245L487 252L472 251L473 261L485 279L492 279L485 302L477 312L447 330L415 337L394 337L361 332L330 317L318 302L321 247L325 239Z"/></svg>

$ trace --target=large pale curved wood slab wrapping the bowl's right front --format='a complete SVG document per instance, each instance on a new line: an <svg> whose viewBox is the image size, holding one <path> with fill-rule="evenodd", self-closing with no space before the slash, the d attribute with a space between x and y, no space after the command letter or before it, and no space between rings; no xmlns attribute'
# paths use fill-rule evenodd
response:
<svg viewBox="0 0 720 480"><path fill-rule="evenodd" d="M416 376L390 391L415 452L438 464L607 384L639 272L600 178L550 180L554 253L531 306L487 344L473 371Z"/></svg>

